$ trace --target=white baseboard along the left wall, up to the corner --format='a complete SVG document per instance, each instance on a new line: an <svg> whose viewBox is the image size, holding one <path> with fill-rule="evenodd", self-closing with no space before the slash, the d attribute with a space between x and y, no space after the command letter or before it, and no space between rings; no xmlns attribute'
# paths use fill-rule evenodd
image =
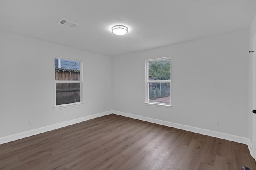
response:
<svg viewBox="0 0 256 170"><path fill-rule="evenodd" d="M76 124L76 123L80 123L80 122L83 122L83 121L94 119L94 118L97 118L97 117L109 115L111 113L112 113L112 111L106 111L106 112L102 112L102 113L98 113L98 114L94 114L94 115L89 115L89 116L81 117L81 118L70 120L70 121L65 121L65 122L62 122L62 123L58 123L58 124L54 124L54 125L50 125L50 126L46 126L46 127L41 127L41 128L38 128L38 129L33 129L33 130L30 130L30 131L26 131L26 132L17 133L17 134L14 134L14 135L2 137L2 138L0 138L0 144L8 143L8 142L15 141L15 140L18 140L18 139L22 139L22 138L25 138L25 137L30 137L30 136L33 136L33 135L37 135L37 134L40 134L40 133L47 132L47 131L52 131L52 130L55 130L55 129L59 129L61 127L66 127L66 126L69 126L69 125L73 125L73 124Z"/></svg>

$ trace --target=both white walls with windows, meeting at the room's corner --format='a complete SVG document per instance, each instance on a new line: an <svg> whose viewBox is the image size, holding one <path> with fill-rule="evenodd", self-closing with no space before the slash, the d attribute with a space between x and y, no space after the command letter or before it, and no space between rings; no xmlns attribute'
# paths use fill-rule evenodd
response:
<svg viewBox="0 0 256 170"><path fill-rule="evenodd" d="M0 32L0 138L109 110L248 138L248 34L109 57ZM83 60L84 105L53 109L56 56ZM173 107L146 106L145 60L168 56Z"/></svg>

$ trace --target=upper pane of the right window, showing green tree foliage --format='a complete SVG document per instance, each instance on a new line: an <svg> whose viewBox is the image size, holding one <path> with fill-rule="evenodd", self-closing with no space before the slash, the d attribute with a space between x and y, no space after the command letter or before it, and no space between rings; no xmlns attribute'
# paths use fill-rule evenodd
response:
<svg viewBox="0 0 256 170"><path fill-rule="evenodd" d="M148 80L171 80L171 60L148 62Z"/></svg>

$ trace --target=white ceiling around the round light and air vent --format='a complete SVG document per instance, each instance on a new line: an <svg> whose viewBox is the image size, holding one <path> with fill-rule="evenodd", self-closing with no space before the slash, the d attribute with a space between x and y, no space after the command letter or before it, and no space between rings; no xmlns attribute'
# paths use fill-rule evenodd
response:
<svg viewBox="0 0 256 170"><path fill-rule="evenodd" d="M0 30L115 56L247 29L255 13L256 0L0 0Z"/></svg>

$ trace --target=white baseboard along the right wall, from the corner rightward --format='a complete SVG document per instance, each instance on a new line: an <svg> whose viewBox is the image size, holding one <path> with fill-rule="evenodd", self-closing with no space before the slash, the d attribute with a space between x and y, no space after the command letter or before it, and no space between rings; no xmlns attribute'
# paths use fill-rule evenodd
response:
<svg viewBox="0 0 256 170"><path fill-rule="evenodd" d="M149 117L143 117L143 116L139 116L139 115L133 115L130 113L124 113L124 112L120 112L120 111L112 111L113 114L116 115L121 115L121 116L125 116L125 117L130 117L133 119L138 119L138 120L142 120L142 121L148 121L151 123L156 123L159 125L164 125L164 126L168 126L168 127L174 127L177 129L182 129L182 130L186 130L186 131L190 131L190 132L194 132L194 133L200 133L202 135L208 135L208 136L212 136L212 137L217 137L220 139L226 139L229 141L234 141L234 142L238 142L238 143L243 143L248 145L248 149L250 151L250 154L253 155L252 153L252 143L250 142L250 140L248 138L245 137L240 137L240 136L236 136L236 135L230 135L227 133L221 133L221 132L217 132L217 131L211 131L211 130L207 130L207 129L201 129L198 127L192 127L192 126L187 126L187 125L182 125L182 124L178 124L178 123L172 123L172 122L168 122L168 121L163 121L163 120L159 120L159 119L153 119L153 118L149 118Z"/></svg>

